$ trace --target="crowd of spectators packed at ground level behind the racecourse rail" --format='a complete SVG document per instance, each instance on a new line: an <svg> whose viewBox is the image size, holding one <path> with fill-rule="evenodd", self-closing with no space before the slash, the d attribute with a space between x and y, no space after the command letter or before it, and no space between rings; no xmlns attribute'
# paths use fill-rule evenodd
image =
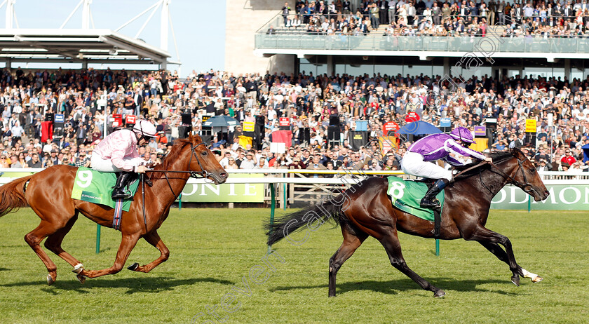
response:
<svg viewBox="0 0 589 324"><path fill-rule="evenodd" d="M351 132L358 121L367 121L369 140L374 140L382 135L384 123L402 126L414 112L435 126L449 118L452 127L470 130L487 118L496 119L496 132L488 137L490 149L521 148L540 170L587 170L581 147L589 143L589 78L473 76L455 81L457 88L440 76L423 74L234 75L211 70L181 79L167 71L4 69L0 167L89 166L104 126L112 130L111 114L122 114L123 120L135 115L156 124L158 137L140 149L146 161L163 158L180 137L181 126L205 134L203 117L227 115L240 121L238 126L210 138L226 168L398 170L417 137L401 138L390 151L381 151L377 142L354 150ZM43 129L51 113L65 115L62 136L50 137ZM182 124L183 113L191 114L191 125ZM255 122L256 116L264 116L264 136L252 145L240 144L241 122ZM289 119L293 140L284 154L273 154L270 142L280 130L280 117ZM330 117L341 123L335 145L327 141ZM526 119L538 121L536 145L525 133ZM311 129L309 142L301 142L302 128Z"/></svg>

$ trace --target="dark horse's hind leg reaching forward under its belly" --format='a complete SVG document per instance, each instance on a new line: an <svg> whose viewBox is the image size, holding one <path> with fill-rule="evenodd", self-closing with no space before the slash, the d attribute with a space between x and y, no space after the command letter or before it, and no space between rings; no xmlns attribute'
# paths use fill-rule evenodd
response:
<svg viewBox="0 0 589 324"><path fill-rule="evenodd" d="M388 259L391 260L391 264L396 269L415 281L418 285L421 286L421 288L433 291L433 297L442 297L446 295L444 290L435 287L424 278L421 278L412 269L409 269L409 266L407 266L407 262L405 262L405 259L403 259L403 255L401 253L401 244L399 243L396 229L391 229L379 241L384 246L386 254L388 255Z"/></svg>

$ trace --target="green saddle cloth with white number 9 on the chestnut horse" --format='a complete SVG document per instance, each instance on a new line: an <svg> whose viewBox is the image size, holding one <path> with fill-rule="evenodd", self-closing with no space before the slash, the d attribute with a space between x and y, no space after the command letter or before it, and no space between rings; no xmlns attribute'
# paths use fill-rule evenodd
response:
<svg viewBox="0 0 589 324"><path fill-rule="evenodd" d="M72 198L89 203L99 203L114 208L114 201L111 198L112 187L116 184L116 174L111 172L99 172L90 168L80 167L74 179ZM132 195L137 192L139 181L135 180L129 184ZM123 210L129 211L133 198L123 201Z"/></svg>

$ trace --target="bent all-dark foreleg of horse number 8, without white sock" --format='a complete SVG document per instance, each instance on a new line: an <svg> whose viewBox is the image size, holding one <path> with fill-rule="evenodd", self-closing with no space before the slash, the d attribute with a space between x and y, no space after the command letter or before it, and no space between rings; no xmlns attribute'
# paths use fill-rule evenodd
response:
<svg viewBox="0 0 589 324"><path fill-rule="evenodd" d="M483 246L485 246L485 244L483 243L495 243L503 245L503 247L505 247L505 251L503 251L503 249L501 248L494 249L497 250L499 255L503 257L503 259L501 259L499 255L495 254L494 250L489 250L493 252L495 255L497 255L499 259L508 264L509 269L513 273L513 276L511 276L511 281L515 285L520 285L520 276L524 276L524 273L522 271L522 268L517 265L517 262L515 262L515 255L513 254L513 249L511 248L511 241L509 241L509 238L507 238L507 236L501 235L499 233L491 231L490 229L486 229L485 227L479 226L473 231L473 233L469 235L464 235L464 239L467 241L478 241ZM485 248L487 248L487 246L485 246ZM499 250L504 252L505 255L502 255L501 252L499 252Z"/></svg>

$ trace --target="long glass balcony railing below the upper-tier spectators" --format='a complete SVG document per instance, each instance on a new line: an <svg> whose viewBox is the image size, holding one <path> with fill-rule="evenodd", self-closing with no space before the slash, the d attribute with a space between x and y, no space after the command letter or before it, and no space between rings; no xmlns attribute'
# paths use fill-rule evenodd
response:
<svg viewBox="0 0 589 324"><path fill-rule="evenodd" d="M588 38L496 38L470 36L382 36L382 35L255 35L257 49L292 50L414 50L444 52L480 52L475 46L485 39L482 48L489 53L589 53Z"/></svg>

